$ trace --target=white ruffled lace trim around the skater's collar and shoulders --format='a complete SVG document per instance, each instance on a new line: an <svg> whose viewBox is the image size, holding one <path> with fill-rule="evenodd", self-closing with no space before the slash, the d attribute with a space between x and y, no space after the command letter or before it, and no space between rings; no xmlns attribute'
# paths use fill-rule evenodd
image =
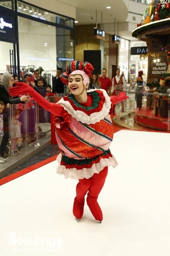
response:
<svg viewBox="0 0 170 256"><path fill-rule="evenodd" d="M82 123L86 124L95 124L96 122L99 122L100 120L104 119L105 116L110 111L111 108L111 98L108 96L108 93L103 89L94 89L94 90L102 90L103 95L105 96L105 103L103 104L103 108L99 112L91 113L90 116L88 116L83 111L75 111L74 108L71 106L69 101L65 101L63 98L59 100L58 104L62 105L62 107L74 118L77 119L77 121L80 121ZM94 91L89 90L89 91Z"/></svg>

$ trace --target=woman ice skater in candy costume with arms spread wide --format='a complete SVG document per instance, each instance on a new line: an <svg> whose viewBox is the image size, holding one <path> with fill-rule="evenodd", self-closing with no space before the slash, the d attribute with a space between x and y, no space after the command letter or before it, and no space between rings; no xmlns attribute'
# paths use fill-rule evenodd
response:
<svg viewBox="0 0 170 256"><path fill-rule="evenodd" d="M102 89L87 91L93 66L73 61L62 74L70 95L57 103L50 103L25 83L10 88L13 96L28 93L42 108L54 114L56 139L60 148L57 173L79 180L74 198L73 214L82 218L85 195L94 218L102 222L102 210L97 202L108 174L108 166L116 167L117 161L109 146L113 140L111 106L127 99L125 93L109 97Z"/></svg>

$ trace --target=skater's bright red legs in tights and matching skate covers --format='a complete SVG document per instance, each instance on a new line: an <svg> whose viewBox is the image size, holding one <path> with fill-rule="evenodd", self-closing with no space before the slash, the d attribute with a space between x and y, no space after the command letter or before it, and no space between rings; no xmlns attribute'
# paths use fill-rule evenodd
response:
<svg viewBox="0 0 170 256"><path fill-rule="evenodd" d="M99 174L95 173L89 179L79 180L76 186L76 197L74 198L73 214L76 218L82 218L85 204L85 195L87 195L87 204L94 218L102 221L102 210L97 203L97 198L105 184L105 179L108 174L108 166L106 166Z"/></svg>

